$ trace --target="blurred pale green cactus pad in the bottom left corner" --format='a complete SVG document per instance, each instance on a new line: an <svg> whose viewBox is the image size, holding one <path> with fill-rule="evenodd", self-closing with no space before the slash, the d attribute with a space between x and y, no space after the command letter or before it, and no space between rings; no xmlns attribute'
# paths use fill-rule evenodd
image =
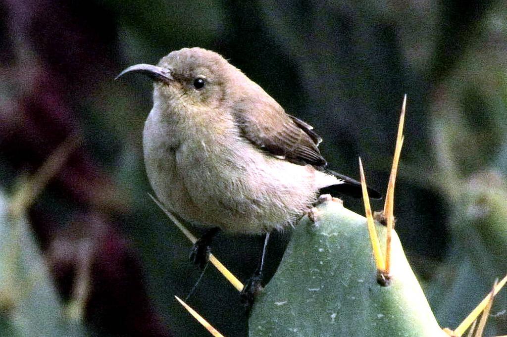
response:
<svg viewBox="0 0 507 337"><path fill-rule="evenodd" d="M0 335L85 336L79 317L66 317L25 214L0 193Z"/></svg>

